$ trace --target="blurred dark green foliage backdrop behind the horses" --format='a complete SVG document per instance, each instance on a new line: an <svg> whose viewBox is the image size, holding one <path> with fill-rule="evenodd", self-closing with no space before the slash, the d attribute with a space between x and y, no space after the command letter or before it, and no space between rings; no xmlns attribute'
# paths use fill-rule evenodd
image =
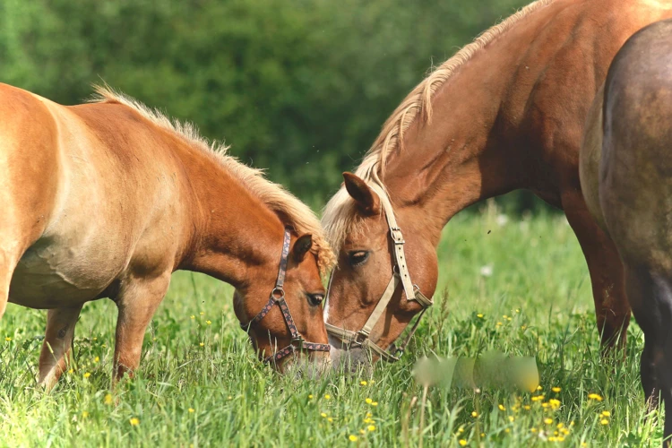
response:
<svg viewBox="0 0 672 448"><path fill-rule="evenodd" d="M433 66L527 3L0 0L0 82L76 104L104 80L317 209Z"/></svg>

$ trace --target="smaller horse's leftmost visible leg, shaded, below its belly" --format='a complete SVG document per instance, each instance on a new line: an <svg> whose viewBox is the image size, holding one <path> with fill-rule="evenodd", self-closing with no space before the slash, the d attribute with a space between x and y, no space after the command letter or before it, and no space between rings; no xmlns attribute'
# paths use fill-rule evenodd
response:
<svg viewBox="0 0 672 448"><path fill-rule="evenodd" d="M50 390L56 385L69 364L73 346L74 325L82 305L50 309L47 313L47 332L39 353L39 383Z"/></svg>

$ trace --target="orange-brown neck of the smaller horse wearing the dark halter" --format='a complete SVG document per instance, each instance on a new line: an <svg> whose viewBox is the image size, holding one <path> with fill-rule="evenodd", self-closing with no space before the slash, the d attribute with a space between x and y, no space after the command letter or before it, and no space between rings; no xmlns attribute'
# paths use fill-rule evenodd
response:
<svg viewBox="0 0 672 448"><path fill-rule="evenodd" d="M185 263L245 289L263 266L277 269L284 227L278 215L216 160L186 168L194 196L194 235ZM198 218L195 218L198 217Z"/></svg>

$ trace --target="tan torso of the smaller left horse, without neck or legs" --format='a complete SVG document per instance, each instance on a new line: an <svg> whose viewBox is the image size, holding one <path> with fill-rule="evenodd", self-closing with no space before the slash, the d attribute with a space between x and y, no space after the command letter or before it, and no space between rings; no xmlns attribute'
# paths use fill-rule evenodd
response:
<svg viewBox="0 0 672 448"><path fill-rule="evenodd" d="M21 217L0 241L22 246L10 301L81 303L128 275L171 271L192 202L171 150L179 137L121 104L64 107L8 86L0 98L3 199Z"/></svg>

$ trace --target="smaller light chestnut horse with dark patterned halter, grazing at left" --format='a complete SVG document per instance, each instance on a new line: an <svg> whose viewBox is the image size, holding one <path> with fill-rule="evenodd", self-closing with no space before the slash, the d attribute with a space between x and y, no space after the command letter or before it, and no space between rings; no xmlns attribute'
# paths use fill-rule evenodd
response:
<svg viewBox="0 0 672 448"><path fill-rule="evenodd" d="M116 378L132 373L177 269L233 285L238 319L280 371L302 342L328 361L320 270L333 254L313 212L192 126L98 94L64 107L0 84L0 316L8 299L49 309L39 382L56 383L83 304L100 297L119 311Z"/></svg>

